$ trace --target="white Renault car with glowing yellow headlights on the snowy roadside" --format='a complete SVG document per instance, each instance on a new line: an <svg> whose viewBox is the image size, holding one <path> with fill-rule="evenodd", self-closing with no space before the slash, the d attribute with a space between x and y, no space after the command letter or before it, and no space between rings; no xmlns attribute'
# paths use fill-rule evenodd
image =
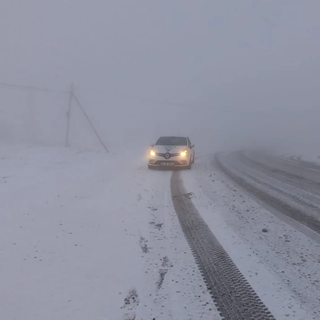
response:
<svg viewBox="0 0 320 320"><path fill-rule="evenodd" d="M187 136L161 136L151 147L149 169L168 166L190 169L194 163L194 144Z"/></svg>

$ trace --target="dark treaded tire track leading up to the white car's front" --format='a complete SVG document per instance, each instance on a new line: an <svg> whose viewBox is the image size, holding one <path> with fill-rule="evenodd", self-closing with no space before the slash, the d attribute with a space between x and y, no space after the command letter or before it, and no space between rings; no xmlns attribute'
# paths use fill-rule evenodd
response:
<svg viewBox="0 0 320 320"><path fill-rule="evenodd" d="M181 228L220 315L228 320L274 319L193 205L179 171L171 175L171 197Z"/></svg>

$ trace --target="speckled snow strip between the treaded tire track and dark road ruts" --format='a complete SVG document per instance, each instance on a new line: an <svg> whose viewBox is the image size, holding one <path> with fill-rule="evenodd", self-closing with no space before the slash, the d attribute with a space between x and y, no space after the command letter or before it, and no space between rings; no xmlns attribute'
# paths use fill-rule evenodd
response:
<svg viewBox="0 0 320 320"><path fill-rule="evenodd" d="M276 319L317 319L320 237L274 216L211 162L201 157L183 181L212 232Z"/></svg>

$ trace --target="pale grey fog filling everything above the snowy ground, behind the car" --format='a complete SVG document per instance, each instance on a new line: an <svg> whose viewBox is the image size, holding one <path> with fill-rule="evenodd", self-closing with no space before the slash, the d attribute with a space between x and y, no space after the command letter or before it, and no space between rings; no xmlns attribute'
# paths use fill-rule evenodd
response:
<svg viewBox="0 0 320 320"><path fill-rule="evenodd" d="M200 148L313 149L318 0L0 4L0 140L64 145L68 91L108 149L187 134ZM51 91L52 90L52 91ZM101 148L72 100L70 144Z"/></svg>

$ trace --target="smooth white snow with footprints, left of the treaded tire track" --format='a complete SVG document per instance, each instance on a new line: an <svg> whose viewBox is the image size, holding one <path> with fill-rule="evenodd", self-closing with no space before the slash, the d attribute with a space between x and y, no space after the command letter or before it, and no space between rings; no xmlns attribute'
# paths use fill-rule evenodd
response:
<svg viewBox="0 0 320 320"><path fill-rule="evenodd" d="M219 319L140 151L1 146L1 319Z"/></svg>

